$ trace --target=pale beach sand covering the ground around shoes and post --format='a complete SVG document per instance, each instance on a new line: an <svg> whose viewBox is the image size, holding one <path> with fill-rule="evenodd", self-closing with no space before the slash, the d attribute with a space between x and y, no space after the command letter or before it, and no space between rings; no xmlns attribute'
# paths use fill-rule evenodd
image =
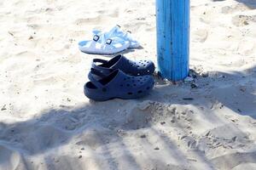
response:
<svg viewBox="0 0 256 170"><path fill-rule="evenodd" d="M125 56L155 62L154 9L154 0L0 1L1 170L256 169L255 0L191 0L195 82L157 80L143 99L84 97L102 56L78 42L119 24L143 47Z"/></svg>

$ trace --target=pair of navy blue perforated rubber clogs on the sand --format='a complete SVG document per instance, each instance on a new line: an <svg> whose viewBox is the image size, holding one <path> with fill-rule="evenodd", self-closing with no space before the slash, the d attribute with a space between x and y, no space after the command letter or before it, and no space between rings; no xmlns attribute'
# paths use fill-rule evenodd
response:
<svg viewBox="0 0 256 170"><path fill-rule="evenodd" d="M84 94L96 101L143 97L154 87L154 68L150 60L131 61L122 54L110 60L93 59Z"/></svg>

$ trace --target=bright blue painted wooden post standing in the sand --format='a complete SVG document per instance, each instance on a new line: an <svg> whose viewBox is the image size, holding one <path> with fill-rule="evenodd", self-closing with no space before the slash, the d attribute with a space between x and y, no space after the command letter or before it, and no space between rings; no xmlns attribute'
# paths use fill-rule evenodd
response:
<svg viewBox="0 0 256 170"><path fill-rule="evenodd" d="M157 62L163 78L189 74L189 0L156 0Z"/></svg>

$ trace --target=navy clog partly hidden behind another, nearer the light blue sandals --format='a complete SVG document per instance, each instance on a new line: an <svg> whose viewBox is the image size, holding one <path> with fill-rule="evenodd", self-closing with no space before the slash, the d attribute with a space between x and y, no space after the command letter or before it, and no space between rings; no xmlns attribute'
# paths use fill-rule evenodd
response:
<svg viewBox="0 0 256 170"><path fill-rule="evenodd" d="M96 63L99 63L99 65L96 65ZM110 60L93 59L91 67L101 71L105 75L119 69L131 76L152 75L155 68L154 63L150 60L131 61L130 59L126 59L122 54Z"/></svg>

